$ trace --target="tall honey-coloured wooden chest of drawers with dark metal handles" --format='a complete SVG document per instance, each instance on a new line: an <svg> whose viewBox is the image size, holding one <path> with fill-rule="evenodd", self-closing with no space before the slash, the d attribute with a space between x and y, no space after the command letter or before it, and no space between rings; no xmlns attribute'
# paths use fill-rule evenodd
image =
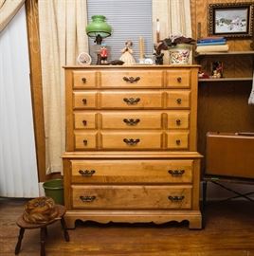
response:
<svg viewBox="0 0 254 256"><path fill-rule="evenodd" d="M201 228L196 65L66 66L66 222Z"/></svg>

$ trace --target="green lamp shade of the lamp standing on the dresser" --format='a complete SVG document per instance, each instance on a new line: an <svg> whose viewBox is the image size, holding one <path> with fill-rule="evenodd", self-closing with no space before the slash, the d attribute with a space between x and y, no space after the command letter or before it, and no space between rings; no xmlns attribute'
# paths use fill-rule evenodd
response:
<svg viewBox="0 0 254 256"><path fill-rule="evenodd" d="M89 37L100 37L105 38L111 35L111 27L105 22L106 17L103 15L92 16L92 21L85 28L86 34Z"/></svg>

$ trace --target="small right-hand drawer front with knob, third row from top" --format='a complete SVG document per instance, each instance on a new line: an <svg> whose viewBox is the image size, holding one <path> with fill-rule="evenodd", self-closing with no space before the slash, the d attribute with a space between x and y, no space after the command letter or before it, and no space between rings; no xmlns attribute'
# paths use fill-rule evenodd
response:
<svg viewBox="0 0 254 256"><path fill-rule="evenodd" d="M188 129L189 128L189 111L169 111L168 125L169 129Z"/></svg>

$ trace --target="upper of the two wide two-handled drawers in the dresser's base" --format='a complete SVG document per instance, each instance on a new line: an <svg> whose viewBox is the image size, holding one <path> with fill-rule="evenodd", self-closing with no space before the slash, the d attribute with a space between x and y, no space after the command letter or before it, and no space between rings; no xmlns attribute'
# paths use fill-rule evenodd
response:
<svg viewBox="0 0 254 256"><path fill-rule="evenodd" d="M191 183L193 160L71 160L74 183Z"/></svg>

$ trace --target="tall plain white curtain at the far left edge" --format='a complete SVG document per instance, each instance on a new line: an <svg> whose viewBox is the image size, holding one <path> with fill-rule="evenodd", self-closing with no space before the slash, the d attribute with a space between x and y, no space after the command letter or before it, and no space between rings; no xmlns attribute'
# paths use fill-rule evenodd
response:
<svg viewBox="0 0 254 256"><path fill-rule="evenodd" d="M0 33L0 196L38 195L23 7Z"/></svg>

